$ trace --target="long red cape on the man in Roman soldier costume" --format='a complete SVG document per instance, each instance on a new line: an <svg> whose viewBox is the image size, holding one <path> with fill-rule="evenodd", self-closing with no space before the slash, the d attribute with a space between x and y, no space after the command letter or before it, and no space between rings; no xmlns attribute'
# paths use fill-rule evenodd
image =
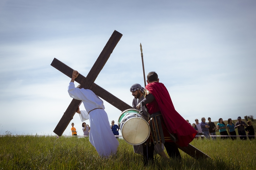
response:
<svg viewBox="0 0 256 170"><path fill-rule="evenodd" d="M149 83L147 89L158 104L163 115L166 128L170 133L175 133L178 137L176 142L180 146L187 146L196 136L196 130L175 110L169 92L163 83ZM156 102L147 104L148 113L153 114L158 110Z"/></svg>

